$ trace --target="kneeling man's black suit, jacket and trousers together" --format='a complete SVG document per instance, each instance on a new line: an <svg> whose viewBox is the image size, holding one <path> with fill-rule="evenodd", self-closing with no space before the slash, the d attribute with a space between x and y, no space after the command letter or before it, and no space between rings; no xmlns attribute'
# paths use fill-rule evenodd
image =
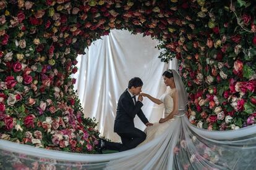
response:
<svg viewBox="0 0 256 170"><path fill-rule="evenodd" d="M134 105L128 89L122 93L118 100L114 132L117 132L122 140L120 151L135 148L146 139L146 134L134 127L135 115L138 115L144 124L148 123L148 119L141 110L142 106L143 103L140 101L135 102Z"/></svg>

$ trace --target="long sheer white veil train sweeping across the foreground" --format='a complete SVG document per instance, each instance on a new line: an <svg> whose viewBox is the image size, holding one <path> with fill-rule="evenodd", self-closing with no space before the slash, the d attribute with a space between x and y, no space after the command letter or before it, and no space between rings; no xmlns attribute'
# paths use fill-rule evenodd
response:
<svg viewBox="0 0 256 170"><path fill-rule="evenodd" d="M151 142L105 155L58 152L0 140L0 169L255 169L255 126L206 131L181 116Z"/></svg>

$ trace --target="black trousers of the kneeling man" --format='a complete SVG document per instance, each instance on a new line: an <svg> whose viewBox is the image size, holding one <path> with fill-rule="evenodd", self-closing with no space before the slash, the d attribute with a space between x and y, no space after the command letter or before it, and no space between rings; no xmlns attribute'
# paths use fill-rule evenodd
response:
<svg viewBox="0 0 256 170"><path fill-rule="evenodd" d="M117 132L117 134L121 137L122 144L105 141L106 150L117 150L119 152L129 150L137 147L137 145L142 143L147 137L145 132L140 131L140 129L136 127L132 127L126 132Z"/></svg>

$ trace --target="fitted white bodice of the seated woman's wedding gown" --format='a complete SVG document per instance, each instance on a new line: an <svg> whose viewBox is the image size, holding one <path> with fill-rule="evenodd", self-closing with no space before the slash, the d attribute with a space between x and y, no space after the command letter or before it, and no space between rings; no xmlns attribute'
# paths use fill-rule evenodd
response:
<svg viewBox="0 0 256 170"><path fill-rule="evenodd" d="M176 89L171 89L168 87L166 92L160 97L160 100L164 104L164 114L169 114L171 111L173 111L173 93L175 91Z"/></svg>

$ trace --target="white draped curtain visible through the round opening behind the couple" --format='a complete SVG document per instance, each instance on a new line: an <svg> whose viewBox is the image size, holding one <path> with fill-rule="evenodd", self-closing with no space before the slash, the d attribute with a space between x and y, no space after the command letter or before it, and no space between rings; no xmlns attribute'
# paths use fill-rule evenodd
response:
<svg viewBox="0 0 256 170"><path fill-rule="evenodd" d="M127 88L128 81L137 76L143 81L142 91L160 97L166 90L162 73L167 68L177 70L177 60L169 64L158 58L160 51L155 48L156 39L142 34L131 34L127 30L111 30L109 36L98 39L85 55L77 57L79 71L75 89L86 117L95 117L97 129L102 136L120 142L114 133L114 118L119 96ZM163 113L163 105L155 105L143 100L142 110L151 122L158 121ZM135 126L144 129L144 124L136 116Z"/></svg>

